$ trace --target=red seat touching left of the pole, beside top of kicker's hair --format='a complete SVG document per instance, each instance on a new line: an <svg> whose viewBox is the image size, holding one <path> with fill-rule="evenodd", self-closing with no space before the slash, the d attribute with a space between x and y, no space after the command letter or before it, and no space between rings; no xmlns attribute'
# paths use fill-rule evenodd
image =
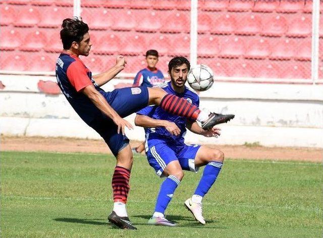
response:
<svg viewBox="0 0 323 238"><path fill-rule="evenodd" d="M43 7L41 12L41 20L38 24L39 27L57 28L61 27L63 19L70 17L73 9L66 9L64 7Z"/></svg>

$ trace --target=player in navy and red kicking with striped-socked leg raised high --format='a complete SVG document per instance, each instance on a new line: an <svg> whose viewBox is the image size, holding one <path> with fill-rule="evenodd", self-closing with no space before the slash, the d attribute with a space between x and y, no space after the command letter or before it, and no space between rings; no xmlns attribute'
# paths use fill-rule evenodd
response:
<svg viewBox="0 0 323 238"><path fill-rule="evenodd" d="M125 127L133 127L123 117L147 105L159 105L171 114L201 121L204 128L211 128L219 121L229 120L232 115L207 115L196 105L168 94L163 88L126 87L105 92L100 86L122 71L126 60L118 56L112 68L92 75L79 58L88 56L91 50L88 31L88 25L79 18L63 21L60 34L64 50L56 63L56 77L72 108L88 126L100 134L117 159L112 177L114 207L108 217L109 221L123 229L137 229L130 222L126 211L133 158ZM177 110L179 107L182 110Z"/></svg>

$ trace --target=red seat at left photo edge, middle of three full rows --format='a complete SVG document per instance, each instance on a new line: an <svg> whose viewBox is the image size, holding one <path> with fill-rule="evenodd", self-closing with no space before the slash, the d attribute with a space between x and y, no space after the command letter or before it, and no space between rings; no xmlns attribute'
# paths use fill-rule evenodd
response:
<svg viewBox="0 0 323 238"><path fill-rule="evenodd" d="M1 36L0 50L13 51L21 45L21 36L16 29L2 27Z"/></svg>

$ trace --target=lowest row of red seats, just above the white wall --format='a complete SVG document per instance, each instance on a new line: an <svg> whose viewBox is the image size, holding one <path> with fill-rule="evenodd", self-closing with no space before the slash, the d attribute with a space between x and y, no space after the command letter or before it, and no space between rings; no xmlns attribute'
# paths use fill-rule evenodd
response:
<svg viewBox="0 0 323 238"><path fill-rule="evenodd" d="M21 54L15 52L3 53L1 58L2 70L13 71L53 71L55 70L57 53L54 54ZM167 72L169 57L160 57L158 67ZM83 58L84 63L93 72L109 68L115 63L113 56L95 56ZM26 64L29 62L29 64ZM133 69L145 67L143 57L127 57L127 67L124 72L131 73ZM297 61L261 61L236 60L221 58L198 58L198 63L209 65L218 76L232 77L269 77L269 78L309 78L310 62Z"/></svg>

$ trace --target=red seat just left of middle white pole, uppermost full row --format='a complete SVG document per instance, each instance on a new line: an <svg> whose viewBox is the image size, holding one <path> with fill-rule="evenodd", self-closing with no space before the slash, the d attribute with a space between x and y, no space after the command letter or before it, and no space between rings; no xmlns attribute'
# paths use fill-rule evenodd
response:
<svg viewBox="0 0 323 238"><path fill-rule="evenodd" d="M163 26L161 26L160 32L180 33L190 30L190 19L185 13L172 12L163 20Z"/></svg>

